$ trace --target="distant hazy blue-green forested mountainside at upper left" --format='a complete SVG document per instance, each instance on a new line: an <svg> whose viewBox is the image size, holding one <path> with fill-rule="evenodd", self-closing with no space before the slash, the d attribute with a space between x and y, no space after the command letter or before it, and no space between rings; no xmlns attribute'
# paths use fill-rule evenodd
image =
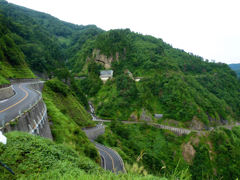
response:
<svg viewBox="0 0 240 180"><path fill-rule="evenodd" d="M12 38L31 69L50 75L64 66L75 48L102 31L94 25L73 25L7 1L0 1L0 13L5 20L12 21ZM71 53L67 53L69 48Z"/></svg>

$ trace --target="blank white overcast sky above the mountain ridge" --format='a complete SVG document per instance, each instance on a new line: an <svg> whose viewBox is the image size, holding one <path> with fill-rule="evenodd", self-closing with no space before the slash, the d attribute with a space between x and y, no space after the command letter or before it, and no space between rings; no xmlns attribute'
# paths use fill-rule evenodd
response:
<svg viewBox="0 0 240 180"><path fill-rule="evenodd" d="M173 47L240 63L239 0L8 0L74 24L162 38Z"/></svg>

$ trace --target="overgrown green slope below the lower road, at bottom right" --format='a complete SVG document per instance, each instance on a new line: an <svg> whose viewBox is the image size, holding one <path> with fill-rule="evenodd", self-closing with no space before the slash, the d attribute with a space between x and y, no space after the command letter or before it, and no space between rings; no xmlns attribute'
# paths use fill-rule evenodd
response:
<svg viewBox="0 0 240 180"><path fill-rule="evenodd" d="M155 175L172 174L177 166L180 171L188 168L192 179L240 176L240 127L179 137L147 124L112 121L97 141L115 149L125 163L137 162Z"/></svg>

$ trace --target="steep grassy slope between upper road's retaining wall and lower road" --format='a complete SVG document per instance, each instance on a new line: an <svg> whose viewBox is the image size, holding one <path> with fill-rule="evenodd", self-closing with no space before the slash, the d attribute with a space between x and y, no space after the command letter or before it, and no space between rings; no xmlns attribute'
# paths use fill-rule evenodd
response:
<svg viewBox="0 0 240 180"><path fill-rule="evenodd" d="M53 79L45 83L43 99L47 105L54 141L99 161L97 150L81 129L94 126L94 123L72 90L61 81Z"/></svg>

